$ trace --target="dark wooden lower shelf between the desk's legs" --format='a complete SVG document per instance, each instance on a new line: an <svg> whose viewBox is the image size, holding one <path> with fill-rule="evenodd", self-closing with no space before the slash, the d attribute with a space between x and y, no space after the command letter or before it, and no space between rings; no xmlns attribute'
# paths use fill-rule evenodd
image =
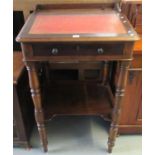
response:
<svg viewBox="0 0 155 155"><path fill-rule="evenodd" d="M43 93L45 119L54 115L103 115L112 111L106 86L98 84L51 84Z"/></svg>

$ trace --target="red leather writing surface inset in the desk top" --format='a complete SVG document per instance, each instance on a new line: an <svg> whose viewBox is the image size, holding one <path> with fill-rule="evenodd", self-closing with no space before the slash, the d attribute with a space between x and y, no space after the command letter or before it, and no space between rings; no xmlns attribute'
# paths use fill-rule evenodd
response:
<svg viewBox="0 0 155 155"><path fill-rule="evenodd" d="M116 14L105 15L37 15L29 34L123 34Z"/></svg>

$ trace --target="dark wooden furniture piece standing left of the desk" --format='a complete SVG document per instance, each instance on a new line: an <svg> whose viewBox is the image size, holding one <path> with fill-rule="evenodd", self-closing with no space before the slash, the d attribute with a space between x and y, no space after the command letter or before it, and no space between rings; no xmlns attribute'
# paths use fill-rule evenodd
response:
<svg viewBox="0 0 155 155"><path fill-rule="evenodd" d="M34 124L33 105L22 53L14 52L13 81L13 145L30 148L29 138Z"/></svg>

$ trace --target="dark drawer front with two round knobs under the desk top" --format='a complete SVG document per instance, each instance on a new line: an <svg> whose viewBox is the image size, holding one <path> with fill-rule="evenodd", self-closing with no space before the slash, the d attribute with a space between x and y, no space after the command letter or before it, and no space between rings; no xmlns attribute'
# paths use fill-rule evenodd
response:
<svg viewBox="0 0 155 155"><path fill-rule="evenodd" d="M123 44L33 44L34 56L121 55Z"/></svg>

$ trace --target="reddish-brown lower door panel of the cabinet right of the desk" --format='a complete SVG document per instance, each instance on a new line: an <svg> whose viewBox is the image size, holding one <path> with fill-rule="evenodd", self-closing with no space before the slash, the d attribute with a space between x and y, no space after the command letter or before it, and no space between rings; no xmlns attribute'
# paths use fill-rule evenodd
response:
<svg viewBox="0 0 155 155"><path fill-rule="evenodd" d="M142 105L142 71L130 70L127 81L125 97L123 99L120 126L141 125L141 105ZM133 93L134 91L134 93ZM128 108L126 108L128 107Z"/></svg>

